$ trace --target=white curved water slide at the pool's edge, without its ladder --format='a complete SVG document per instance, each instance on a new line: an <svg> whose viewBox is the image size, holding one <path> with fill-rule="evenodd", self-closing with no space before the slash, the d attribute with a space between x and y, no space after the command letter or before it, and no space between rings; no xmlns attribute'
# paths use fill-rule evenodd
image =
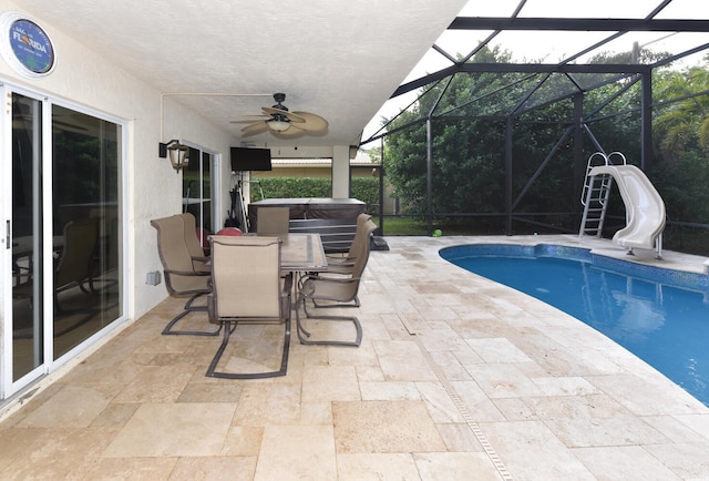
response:
<svg viewBox="0 0 709 481"><path fill-rule="evenodd" d="M665 231L665 202L645 173L635 165L599 165L588 175L612 175L625 203L626 226L616 232L613 242L633 252L655 248L661 252Z"/></svg>

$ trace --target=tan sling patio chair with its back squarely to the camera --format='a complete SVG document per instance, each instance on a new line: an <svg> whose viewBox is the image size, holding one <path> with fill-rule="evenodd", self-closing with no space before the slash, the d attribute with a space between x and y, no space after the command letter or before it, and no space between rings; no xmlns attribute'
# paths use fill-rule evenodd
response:
<svg viewBox="0 0 709 481"><path fill-rule="evenodd" d="M207 301L209 321L219 324L224 335L206 376L227 379L285 376L290 348L292 277L280 276L280 240L258 236L210 236L209 240L213 259L213 290ZM247 323L285 324L278 369L258 372L218 370L232 334L239 324Z"/></svg>

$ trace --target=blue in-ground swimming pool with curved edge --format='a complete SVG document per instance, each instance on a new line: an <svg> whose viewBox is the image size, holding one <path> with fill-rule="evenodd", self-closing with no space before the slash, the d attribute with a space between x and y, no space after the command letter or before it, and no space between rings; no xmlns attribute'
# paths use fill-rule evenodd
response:
<svg viewBox="0 0 709 481"><path fill-rule="evenodd" d="M548 244L475 244L440 255L586 323L709 406L709 276Z"/></svg>

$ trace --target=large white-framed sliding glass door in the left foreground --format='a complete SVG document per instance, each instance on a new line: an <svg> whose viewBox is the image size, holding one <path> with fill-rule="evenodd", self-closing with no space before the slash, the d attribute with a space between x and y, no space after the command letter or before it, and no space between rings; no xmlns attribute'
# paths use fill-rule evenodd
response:
<svg viewBox="0 0 709 481"><path fill-rule="evenodd" d="M121 124L4 89L0 399L123 316Z"/></svg>

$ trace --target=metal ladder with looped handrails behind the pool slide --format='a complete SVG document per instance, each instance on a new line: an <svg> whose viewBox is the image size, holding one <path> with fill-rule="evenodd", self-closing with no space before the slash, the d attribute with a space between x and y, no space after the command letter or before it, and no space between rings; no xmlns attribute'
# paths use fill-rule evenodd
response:
<svg viewBox="0 0 709 481"><path fill-rule="evenodd" d="M584 205L584 215L578 231L579 236L600 237L606 218L610 187L613 186L613 176L609 174L590 175L590 171L598 165L610 165L613 155L618 155L623 161L623 165L625 165L625 156L620 152L613 152L610 155L596 152L588 157L586 181L580 196L580 203Z"/></svg>

